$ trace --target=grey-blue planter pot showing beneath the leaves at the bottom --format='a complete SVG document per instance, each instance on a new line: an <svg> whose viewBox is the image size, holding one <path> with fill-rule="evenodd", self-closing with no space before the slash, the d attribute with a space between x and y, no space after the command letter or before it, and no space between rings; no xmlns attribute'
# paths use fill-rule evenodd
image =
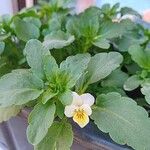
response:
<svg viewBox="0 0 150 150"><path fill-rule="evenodd" d="M3 150L33 150L27 142L26 128L29 110L22 110L21 114L0 125L0 148ZM121 146L111 140L108 134L98 130L93 122L81 129L70 120L74 131L72 150L132 150L128 146Z"/></svg>

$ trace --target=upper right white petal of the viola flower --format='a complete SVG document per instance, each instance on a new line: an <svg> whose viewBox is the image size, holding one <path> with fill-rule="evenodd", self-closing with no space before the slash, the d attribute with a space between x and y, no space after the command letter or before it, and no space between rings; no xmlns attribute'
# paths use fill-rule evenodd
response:
<svg viewBox="0 0 150 150"><path fill-rule="evenodd" d="M83 104L87 104L89 106L94 104L95 98L90 93L82 94L80 97L83 100Z"/></svg>

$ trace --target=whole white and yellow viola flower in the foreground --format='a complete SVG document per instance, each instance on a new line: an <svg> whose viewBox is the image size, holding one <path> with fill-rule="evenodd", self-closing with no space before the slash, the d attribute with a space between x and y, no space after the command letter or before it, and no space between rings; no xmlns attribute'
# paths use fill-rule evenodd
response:
<svg viewBox="0 0 150 150"><path fill-rule="evenodd" d="M73 117L73 121L83 128L89 123L89 116L92 114L91 106L95 98L89 93L78 95L72 92L72 95L72 104L65 107L65 115L69 118Z"/></svg>

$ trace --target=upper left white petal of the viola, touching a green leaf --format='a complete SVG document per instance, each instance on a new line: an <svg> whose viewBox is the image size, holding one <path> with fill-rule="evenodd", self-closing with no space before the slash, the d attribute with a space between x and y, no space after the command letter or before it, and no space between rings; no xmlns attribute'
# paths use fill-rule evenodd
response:
<svg viewBox="0 0 150 150"><path fill-rule="evenodd" d="M76 92L72 92L72 96L73 96L72 105L81 106L83 104L83 100Z"/></svg>

